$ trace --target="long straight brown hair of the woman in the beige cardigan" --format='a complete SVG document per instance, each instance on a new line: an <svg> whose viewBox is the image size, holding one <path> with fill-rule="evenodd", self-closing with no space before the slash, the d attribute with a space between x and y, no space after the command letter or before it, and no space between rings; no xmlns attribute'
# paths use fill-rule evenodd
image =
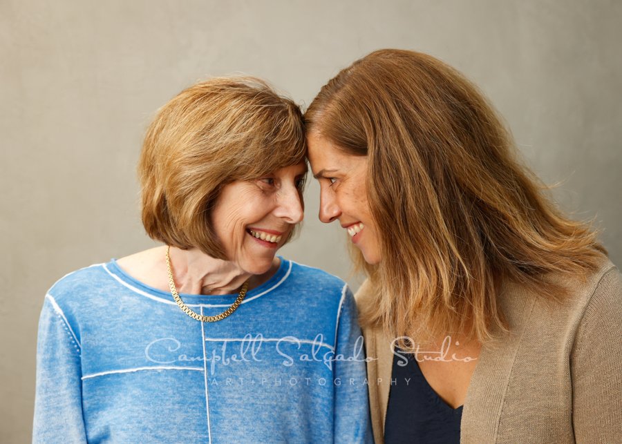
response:
<svg viewBox="0 0 622 444"><path fill-rule="evenodd" d="M323 86L305 123L368 158L381 262L354 249L378 293L364 325L417 342L455 332L487 342L507 331L502 282L558 300L549 273L585 276L606 253L543 195L478 88L434 57L372 52Z"/></svg>

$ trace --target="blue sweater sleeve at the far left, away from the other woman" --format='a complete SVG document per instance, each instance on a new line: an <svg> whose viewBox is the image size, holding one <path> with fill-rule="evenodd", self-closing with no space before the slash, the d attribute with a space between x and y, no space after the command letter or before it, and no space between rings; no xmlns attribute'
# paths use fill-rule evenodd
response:
<svg viewBox="0 0 622 444"><path fill-rule="evenodd" d="M32 443L86 443L80 345L49 294L39 318Z"/></svg>

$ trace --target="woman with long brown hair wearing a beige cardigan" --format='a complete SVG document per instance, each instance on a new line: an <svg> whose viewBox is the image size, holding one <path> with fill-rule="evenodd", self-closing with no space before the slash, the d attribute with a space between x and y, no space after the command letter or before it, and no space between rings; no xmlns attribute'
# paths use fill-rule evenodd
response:
<svg viewBox="0 0 622 444"><path fill-rule="evenodd" d="M348 230L368 273L376 442L622 442L621 275L540 192L478 89L379 50L305 121L320 219Z"/></svg>

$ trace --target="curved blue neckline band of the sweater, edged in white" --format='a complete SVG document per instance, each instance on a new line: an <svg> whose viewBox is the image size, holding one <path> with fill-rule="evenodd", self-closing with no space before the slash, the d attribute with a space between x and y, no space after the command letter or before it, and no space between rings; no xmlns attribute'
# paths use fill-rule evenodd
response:
<svg viewBox="0 0 622 444"><path fill-rule="evenodd" d="M242 301L243 304L263 296L273 289L276 289L276 287L279 287L279 285L281 285L283 281L288 278L292 270L292 262L290 260L285 260L281 256L278 257L281 262L279 264L279 269L277 269L276 273L274 273L274 275L266 282L263 282L263 284L258 287L247 291L246 297ZM106 271L111 274L115 280L117 280L117 282L124 285L124 287L130 289L131 291L141 294L142 296L148 296L152 299L160 299L162 302L175 303L170 292L156 289L155 287L151 287L150 285L133 278L133 276L130 276L126 273L126 271L119 267L115 258L111 259L107 264L103 264L103 266L104 269L106 269ZM180 293L179 296L184 302L187 304L189 303L189 305L218 306L223 304L229 306L238 297L238 293L222 295Z"/></svg>

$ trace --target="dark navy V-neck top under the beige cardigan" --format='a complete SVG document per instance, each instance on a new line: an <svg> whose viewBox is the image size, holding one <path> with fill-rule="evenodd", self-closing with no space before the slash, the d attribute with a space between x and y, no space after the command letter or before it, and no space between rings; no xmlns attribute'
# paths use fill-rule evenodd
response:
<svg viewBox="0 0 622 444"><path fill-rule="evenodd" d="M384 424L386 443L460 443L462 405L447 405L430 387L417 360L397 352Z"/></svg>

